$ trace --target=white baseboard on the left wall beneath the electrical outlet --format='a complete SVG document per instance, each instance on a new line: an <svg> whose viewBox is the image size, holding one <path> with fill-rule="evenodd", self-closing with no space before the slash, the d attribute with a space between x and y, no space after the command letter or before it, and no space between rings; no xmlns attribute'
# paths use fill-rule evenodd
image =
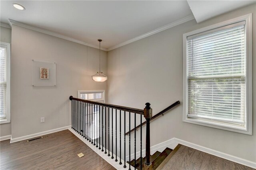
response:
<svg viewBox="0 0 256 170"><path fill-rule="evenodd" d="M21 137L18 137L18 138L12 138L11 137L10 143L14 143L14 142L18 142L18 141L21 141L21 140L26 140L26 139L34 138L34 137L37 137L37 136L42 136L42 135L54 133L54 132L59 132L61 130L66 130L70 127L71 126L66 126L66 127L56 128L56 129L52 129L52 130L46 130L44 132L39 132L39 133L34 133L34 134L26 135L26 136L21 136Z"/></svg>

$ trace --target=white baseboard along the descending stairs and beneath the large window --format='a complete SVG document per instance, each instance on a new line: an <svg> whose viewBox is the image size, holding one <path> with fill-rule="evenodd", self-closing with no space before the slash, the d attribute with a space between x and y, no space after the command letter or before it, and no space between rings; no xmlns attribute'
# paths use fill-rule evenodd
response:
<svg viewBox="0 0 256 170"><path fill-rule="evenodd" d="M178 144L182 144L184 146L188 146L190 148L196 149L196 150L200 150L202 152L214 155L214 156L218 156L220 158L226 159L226 160L230 160L232 162L236 162L238 164L242 164L244 166L248 166L250 168L254 168L256 169L256 162L252 162L250 160L246 160L243 158L239 158L237 156L233 156L230 154L226 154L217 150L213 150L210 148L206 148L204 146L200 146L198 144L194 144L191 142L187 142L185 140L181 140L178 138L172 138L170 140L166 140L165 142L162 142L160 144L156 144L154 146L150 147L150 153L154 154L156 151L162 152L164 151L165 148L171 148L174 149ZM142 157L145 156L146 150L142 150ZM136 152L136 158L138 159L140 157L140 152ZM134 154L131 154L131 160L134 159ZM126 156L126 160L129 160L129 156Z"/></svg>

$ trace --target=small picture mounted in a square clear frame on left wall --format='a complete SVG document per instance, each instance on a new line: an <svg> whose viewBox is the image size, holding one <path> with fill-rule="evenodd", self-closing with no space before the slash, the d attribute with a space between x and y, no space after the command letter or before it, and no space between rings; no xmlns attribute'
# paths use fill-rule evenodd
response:
<svg viewBox="0 0 256 170"><path fill-rule="evenodd" d="M56 86L56 63L32 59L32 86Z"/></svg>

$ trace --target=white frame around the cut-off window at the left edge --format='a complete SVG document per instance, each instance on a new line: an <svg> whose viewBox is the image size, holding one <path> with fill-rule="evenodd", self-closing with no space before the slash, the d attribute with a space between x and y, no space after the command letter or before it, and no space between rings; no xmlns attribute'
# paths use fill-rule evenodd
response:
<svg viewBox="0 0 256 170"><path fill-rule="evenodd" d="M6 119L0 120L0 124L11 122L10 113L10 70L11 70L11 44L0 42L0 45L6 46Z"/></svg>

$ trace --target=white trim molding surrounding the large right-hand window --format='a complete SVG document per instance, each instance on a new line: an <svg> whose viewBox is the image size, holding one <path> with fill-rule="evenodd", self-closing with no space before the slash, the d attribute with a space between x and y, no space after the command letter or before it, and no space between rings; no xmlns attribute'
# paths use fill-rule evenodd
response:
<svg viewBox="0 0 256 170"><path fill-rule="evenodd" d="M246 22L246 127L239 128L235 125L224 125L219 122L189 118L187 116L187 37L241 21ZM252 135L252 13L183 34L183 102L183 122Z"/></svg>

